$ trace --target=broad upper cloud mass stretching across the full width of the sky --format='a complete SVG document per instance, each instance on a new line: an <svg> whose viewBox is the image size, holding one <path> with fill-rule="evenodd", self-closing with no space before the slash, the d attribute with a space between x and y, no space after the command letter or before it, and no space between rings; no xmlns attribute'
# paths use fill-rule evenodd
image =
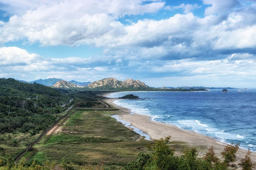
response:
<svg viewBox="0 0 256 170"><path fill-rule="evenodd" d="M256 10L256 6L233 10L237 1L204 0L211 6L206 9L209 15L203 18L187 13L163 20L138 20L130 25L118 21L124 15L155 12L164 4L161 1L144 2L36 1L30 6L28 1L18 1L20 6L11 7L26 12L17 13L0 27L0 42L26 39L45 46L93 45L104 48L106 55L127 59L213 57L216 50L256 47L256 19L253 19L256 13L247 12ZM74 8L72 11L70 6ZM188 12L192 6L198 7L181 4L179 8ZM221 22L220 17L210 15L222 11L228 15Z"/></svg>

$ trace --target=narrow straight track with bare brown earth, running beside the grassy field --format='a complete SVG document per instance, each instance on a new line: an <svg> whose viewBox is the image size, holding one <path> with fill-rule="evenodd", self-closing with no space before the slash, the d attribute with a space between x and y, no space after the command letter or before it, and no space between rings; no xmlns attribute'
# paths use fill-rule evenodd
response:
<svg viewBox="0 0 256 170"><path fill-rule="evenodd" d="M36 143L38 143L45 136L47 136L47 138L44 141L44 143L46 143L47 140L49 138L51 138L51 135L54 134L54 132L56 132L58 130L58 127L61 127L61 125L63 125L63 123L65 121L67 121L68 118L72 117L72 115L74 115L78 110L78 109L76 109L73 113L70 114L72 109L73 109L72 106L70 108L68 108L68 110L66 110L67 113L65 115L63 115L62 117L58 118L58 120L56 120L56 122L54 124L52 124L50 127L48 127L44 132L42 132L42 134L40 134L40 136L38 136L38 138L33 143L30 143L23 152L21 152L19 155L17 155L17 157L15 157L15 161L18 162L21 159L21 157L23 157L27 152L33 150L33 146L36 145Z"/></svg>

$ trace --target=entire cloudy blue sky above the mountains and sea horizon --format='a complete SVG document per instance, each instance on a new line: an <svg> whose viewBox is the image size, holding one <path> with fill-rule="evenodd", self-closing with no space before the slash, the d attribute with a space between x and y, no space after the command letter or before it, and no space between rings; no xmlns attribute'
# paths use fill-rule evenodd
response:
<svg viewBox="0 0 256 170"><path fill-rule="evenodd" d="M256 0L0 0L0 78L256 88Z"/></svg>

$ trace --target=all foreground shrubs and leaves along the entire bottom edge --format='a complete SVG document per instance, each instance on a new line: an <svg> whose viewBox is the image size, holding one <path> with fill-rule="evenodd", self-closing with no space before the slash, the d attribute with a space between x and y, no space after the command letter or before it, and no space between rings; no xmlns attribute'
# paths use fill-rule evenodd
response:
<svg viewBox="0 0 256 170"><path fill-rule="evenodd" d="M238 145L227 145L221 155L222 160L218 159L214 153L213 148L209 148L208 152L202 159L199 159L196 155L196 149L190 148L184 151L181 156L176 156L173 152L173 148L168 145L170 138L159 139L154 145L148 145L149 153L139 153L135 160L129 162L124 170L225 170L225 169L237 169L241 167L243 170L253 169L255 164L250 160L250 150L241 163L234 164L236 161L236 152ZM44 162L37 162L35 159L30 164L26 159L22 158L19 163L15 163L10 155L0 157L0 169L77 169L72 163L62 160L61 162L45 160ZM115 167L106 167L102 164L92 166L85 164L79 169L116 169ZM119 168L118 168L119 169Z"/></svg>

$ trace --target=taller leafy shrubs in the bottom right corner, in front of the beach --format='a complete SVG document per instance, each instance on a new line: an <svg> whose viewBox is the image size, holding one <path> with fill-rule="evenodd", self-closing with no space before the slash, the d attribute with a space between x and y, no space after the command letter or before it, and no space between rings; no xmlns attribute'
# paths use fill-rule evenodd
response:
<svg viewBox="0 0 256 170"><path fill-rule="evenodd" d="M168 145L169 138L159 139L154 146L148 147L150 153L140 153L135 160L132 160L125 166L125 170L225 170L237 169L241 167L243 170L253 169L255 164L250 159L250 150L241 163L234 164L236 161L236 152L239 145L227 145L221 152L222 159L218 159L213 148L209 148L205 156L200 159L197 157L196 148L190 148L184 151L181 156L174 155L173 148Z"/></svg>

